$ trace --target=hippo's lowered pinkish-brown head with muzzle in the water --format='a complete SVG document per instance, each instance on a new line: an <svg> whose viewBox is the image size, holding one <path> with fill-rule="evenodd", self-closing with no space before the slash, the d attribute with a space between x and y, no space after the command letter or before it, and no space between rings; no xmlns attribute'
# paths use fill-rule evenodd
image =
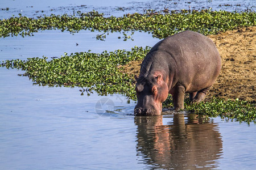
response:
<svg viewBox="0 0 256 170"><path fill-rule="evenodd" d="M137 105L136 116L155 116L162 112L162 103L167 99L168 86L162 75L140 76L135 87Z"/></svg>

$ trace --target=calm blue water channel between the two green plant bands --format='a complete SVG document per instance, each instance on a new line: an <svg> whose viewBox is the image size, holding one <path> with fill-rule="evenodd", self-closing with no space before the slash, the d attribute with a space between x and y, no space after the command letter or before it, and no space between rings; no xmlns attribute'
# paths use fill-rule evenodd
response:
<svg viewBox="0 0 256 170"><path fill-rule="evenodd" d="M116 49L131 50L135 45L154 46L159 41L159 39L152 38L151 34L139 31L135 31L131 36L133 41L130 39L123 41L123 34L119 32L110 33L106 36L105 41L100 41L96 39L98 34L101 32L86 30L72 35L67 31L46 30L24 38L21 36L6 37L0 41L0 59L60 57L64 55L64 52L70 54L88 50L91 50L92 53L102 53L104 50L110 52Z"/></svg>

